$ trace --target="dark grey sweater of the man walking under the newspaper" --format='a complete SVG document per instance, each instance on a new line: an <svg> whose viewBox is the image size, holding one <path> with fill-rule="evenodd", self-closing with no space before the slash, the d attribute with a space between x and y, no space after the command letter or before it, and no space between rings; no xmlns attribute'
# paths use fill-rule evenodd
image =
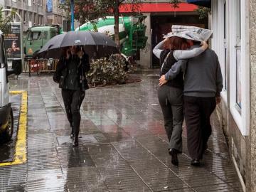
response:
<svg viewBox="0 0 256 192"><path fill-rule="evenodd" d="M198 46L192 46L196 48ZM220 70L218 56L213 50L207 49L201 55L175 63L166 79L173 79L180 73L184 75L184 90L186 96L216 97L223 89L223 78Z"/></svg>

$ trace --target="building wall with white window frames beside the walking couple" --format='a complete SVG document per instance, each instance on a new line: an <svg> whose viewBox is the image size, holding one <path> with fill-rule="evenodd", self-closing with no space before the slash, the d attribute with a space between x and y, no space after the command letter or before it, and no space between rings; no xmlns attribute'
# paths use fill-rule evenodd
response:
<svg viewBox="0 0 256 192"><path fill-rule="evenodd" d="M218 107L244 191L256 191L256 0L212 0L212 48L223 73Z"/></svg>

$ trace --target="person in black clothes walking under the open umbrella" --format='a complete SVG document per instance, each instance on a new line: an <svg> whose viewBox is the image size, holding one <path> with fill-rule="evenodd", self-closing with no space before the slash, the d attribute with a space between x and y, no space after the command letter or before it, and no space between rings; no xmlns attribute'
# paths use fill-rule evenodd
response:
<svg viewBox="0 0 256 192"><path fill-rule="evenodd" d="M59 83L65 111L70 122L73 146L78 146L80 131L80 106L89 88L85 73L90 70L88 55L79 46L70 46L63 51L53 80Z"/></svg>

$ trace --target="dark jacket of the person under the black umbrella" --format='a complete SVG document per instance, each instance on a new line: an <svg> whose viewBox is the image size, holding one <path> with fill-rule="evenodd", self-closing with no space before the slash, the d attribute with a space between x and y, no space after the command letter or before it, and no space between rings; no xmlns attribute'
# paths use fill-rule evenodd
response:
<svg viewBox="0 0 256 192"><path fill-rule="evenodd" d="M60 88L67 87L65 84L68 82L65 81L65 78L67 78L68 75L68 63L70 63L71 60L75 61L75 63L78 63L78 83L80 90L85 91L89 89L85 76L85 73L90 70L89 57L87 54L84 54L82 59L80 59L78 55L74 55L73 57L70 56L68 60L65 59L65 57L61 57L53 75L53 80L59 83Z"/></svg>

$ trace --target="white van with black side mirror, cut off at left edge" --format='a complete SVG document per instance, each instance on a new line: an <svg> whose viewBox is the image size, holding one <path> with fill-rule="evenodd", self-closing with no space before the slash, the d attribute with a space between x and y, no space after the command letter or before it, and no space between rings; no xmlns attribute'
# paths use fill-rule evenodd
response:
<svg viewBox="0 0 256 192"><path fill-rule="evenodd" d="M0 31L0 139L10 140L14 131L14 116L9 98L9 80L11 74L21 74L21 59L13 60L12 69L8 70L4 35ZM0 141L1 141L0 140Z"/></svg>

